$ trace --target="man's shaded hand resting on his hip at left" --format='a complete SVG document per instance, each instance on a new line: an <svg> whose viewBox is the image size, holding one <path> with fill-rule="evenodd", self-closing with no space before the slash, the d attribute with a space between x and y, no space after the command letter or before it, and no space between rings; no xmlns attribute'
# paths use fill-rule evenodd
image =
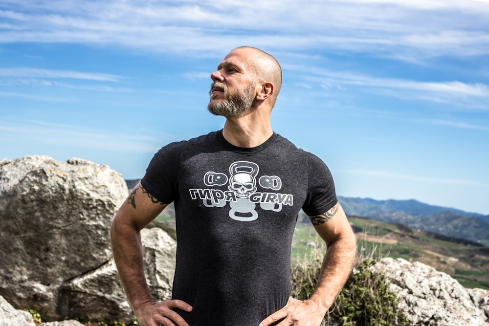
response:
<svg viewBox="0 0 489 326"><path fill-rule="evenodd" d="M192 306L181 300L166 300L143 305L138 309L136 316L140 326L189 326L185 320L174 310L192 311Z"/></svg>

